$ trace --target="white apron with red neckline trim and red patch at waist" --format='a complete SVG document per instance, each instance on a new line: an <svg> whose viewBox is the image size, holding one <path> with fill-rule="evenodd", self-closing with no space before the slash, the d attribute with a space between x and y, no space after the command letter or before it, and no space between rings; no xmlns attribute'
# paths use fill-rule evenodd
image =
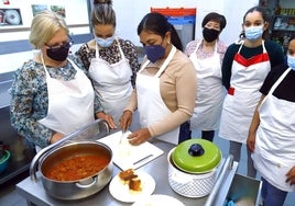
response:
<svg viewBox="0 0 295 206"><path fill-rule="evenodd" d="M230 89L222 105L219 136L245 144L249 126L261 96L259 90L271 70L271 64L264 42L263 53L249 59L240 55L242 46L243 43L232 62Z"/></svg>

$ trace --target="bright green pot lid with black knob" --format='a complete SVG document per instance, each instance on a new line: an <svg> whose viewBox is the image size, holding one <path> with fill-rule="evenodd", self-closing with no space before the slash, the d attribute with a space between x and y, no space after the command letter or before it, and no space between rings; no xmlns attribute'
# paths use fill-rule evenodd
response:
<svg viewBox="0 0 295 206"><path fill-rule="evenodd" d="M205 173L218 167L221 151L211 141L193 138L176 146L172 160L177 168L185 172Z"/></svg>

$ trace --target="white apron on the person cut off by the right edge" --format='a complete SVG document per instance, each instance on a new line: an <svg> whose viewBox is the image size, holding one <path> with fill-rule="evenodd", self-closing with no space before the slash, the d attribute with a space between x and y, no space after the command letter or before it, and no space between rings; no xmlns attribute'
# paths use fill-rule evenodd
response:
<svg viewBox="0 0 295 206"><path fill-rule="evenodd" d="M295 191L295 185L285 183L286 173L295 165L295 103L272 94L289 70L274 83L259 107L261 121L252 153L254 167L261 175L287 192Z"/></svg>

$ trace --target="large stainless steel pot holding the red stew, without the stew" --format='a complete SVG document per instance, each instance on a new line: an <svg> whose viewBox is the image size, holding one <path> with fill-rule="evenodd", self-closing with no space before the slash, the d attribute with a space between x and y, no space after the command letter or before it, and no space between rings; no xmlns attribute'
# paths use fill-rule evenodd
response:
<svg viewBox="0 0 295 206"><path fill-rule="evenodd" d="M106 133L102 133L105 128ZM43 148L35 154L30 165L30 176L32 181L37 180L37 169L41 173L41 179L45 191L53 197L58 199L80 199L88 197L101 188L103 188L112 176L112 151L102 144L92 139L98 134L108 135L109 126L107 122L96 119L88 125L83 126L77 131L74 131L62 140ZM73 141L73 139L76 139ZM44 175L45 171L59 161L73 156L96 154L107 157L108 165L97 172L95 175L77 181L54 181Z"/></svg>

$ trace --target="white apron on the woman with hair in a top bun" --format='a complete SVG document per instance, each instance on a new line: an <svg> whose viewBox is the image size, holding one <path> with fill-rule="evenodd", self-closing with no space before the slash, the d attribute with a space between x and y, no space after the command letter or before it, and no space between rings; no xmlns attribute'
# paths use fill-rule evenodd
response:
<svg viewBox="0 0 295 206"><path fill-rule="evenodd" d="M123 114L133 88L129 60L124 57L119 41L117 43L122 59L112 65L99 58L99 48L96 44L96 58L91 59L89 77L94 80L103 111L119 125L119 118Z"/></svg>

